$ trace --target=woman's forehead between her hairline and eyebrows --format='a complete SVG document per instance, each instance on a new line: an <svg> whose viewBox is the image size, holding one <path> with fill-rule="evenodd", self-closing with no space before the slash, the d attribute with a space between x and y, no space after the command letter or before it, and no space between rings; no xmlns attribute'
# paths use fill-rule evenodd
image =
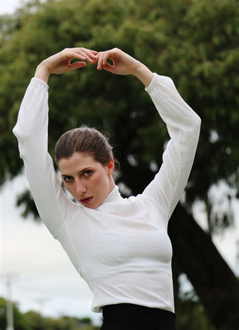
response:
<svg viewBox="0 0 239 330"><path fill-rule="evenodd" d="M101 164L92 155L84 152L75 152L70 158L62 158L58 161L59 170L65 172L80 172L86 168L98 167Z"/></svg>

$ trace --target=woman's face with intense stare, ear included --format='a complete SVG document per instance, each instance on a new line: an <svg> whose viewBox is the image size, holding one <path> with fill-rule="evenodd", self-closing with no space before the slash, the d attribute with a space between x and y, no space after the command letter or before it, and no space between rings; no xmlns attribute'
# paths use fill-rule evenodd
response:
<svg viewBox="0 0 239 330"><path fill-rule="evenodd" d="M58 167L66 189L86 207L97 208L115 186L113 159L103 166L88 153L75 152L59 160Z"/></svg>

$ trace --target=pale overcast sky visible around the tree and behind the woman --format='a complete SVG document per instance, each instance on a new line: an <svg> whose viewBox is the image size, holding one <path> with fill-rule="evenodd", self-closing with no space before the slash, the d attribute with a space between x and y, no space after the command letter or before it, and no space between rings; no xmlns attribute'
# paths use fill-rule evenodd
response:
<svg viewBox="0 0 239 330"><path fill-rule="evenodd" d="M0 0L0 15L12 14L24 1ZM18 155L16 155L18 156ZM43 225L23 220L15 207L16 195L28 187L24 175L7 182L1 198L1 273L14 275L12 298L22 311L39 310L45 315L90 316L96 323L101 314L91 312L92 294L71 264L61 245ZM233 204L235 227L215 236L213 242L231 269L239 275L236 259L238 241L238 203ZM196 208L197 222L206 228L202 206ZM185 290L190 284L182 277ZM6 278L2 276L0 296L7 297Z"/></svg>

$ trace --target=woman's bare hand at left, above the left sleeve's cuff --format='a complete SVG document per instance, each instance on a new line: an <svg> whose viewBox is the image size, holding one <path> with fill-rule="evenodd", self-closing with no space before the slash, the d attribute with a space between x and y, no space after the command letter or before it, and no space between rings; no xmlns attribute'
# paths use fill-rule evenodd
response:
<svg viewBox="0 0 239 330"><path fill-rule="evenodd" d="M40 78L47 83L49 75L52 73L62 74L86 67L87 65L85 62L75 62L71 64L72 59L79 59L93 64L97 61L97 53L98 51L96 50L83 47L65 48L42 61L36 68L35 77Z"/></svg>

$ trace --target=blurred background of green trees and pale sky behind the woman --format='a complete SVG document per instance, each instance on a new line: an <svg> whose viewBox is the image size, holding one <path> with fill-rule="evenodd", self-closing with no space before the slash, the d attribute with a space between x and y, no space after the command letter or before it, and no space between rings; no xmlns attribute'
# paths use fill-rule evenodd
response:
<svg viewBox="0 0 239 330"><path fill-rule="evenodd" d="M78 46L121 48L171 77L201 117L194 166L168 228L177 329L238 328L238 7L237 0L0 1L1 329L101 324L90 289L41 224L12 134L36 66ZM65 131L96 126L121 162L122 195L141 193L169 139L142 83L93 65L48 84L50 154Z"/></svg>

